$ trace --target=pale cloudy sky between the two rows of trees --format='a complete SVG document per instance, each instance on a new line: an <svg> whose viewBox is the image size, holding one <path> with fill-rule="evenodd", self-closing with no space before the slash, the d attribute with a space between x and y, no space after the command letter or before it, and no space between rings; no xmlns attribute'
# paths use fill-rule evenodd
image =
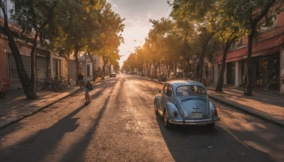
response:
<svg viewBox="0 0 284 162"><path fill-rule="evenodd" d="M145 43L152 24L149 19L160 20L160 18L168 17L171 8L167 4L167 0L107 0L111 4L115 13L119 13L121 18L125 18L124 44L119 46L119 55L123 55L119 60L122 67L130 53L135 48Z"/></svg>

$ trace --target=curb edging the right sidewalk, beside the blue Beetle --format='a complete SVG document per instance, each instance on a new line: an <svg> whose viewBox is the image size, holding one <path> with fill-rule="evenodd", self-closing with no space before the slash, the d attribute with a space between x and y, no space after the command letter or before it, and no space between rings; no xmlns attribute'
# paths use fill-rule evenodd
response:
<svg viewBox="0 0 284 162"><path fill-rule="evenodd" d="M163 85L163 82L159 82L158 80L152 80L152 79L150 79L150 78L148 78L148 80L151 80L152 82L157 82L157 83L159 83L160 85ZM273 123L273 124L276 124L276 125L278 125L278 126L284 127L284 123L283 123L283 122L280 122L280 121L278 121L277 119L273 119L273 118L271 118L271 117L267 117L266 115L261 114L261 113L259 113L259 112L255 112L255 111L253 111L250 107L246 107L246 108L244 108L244 107L239 107L239 106L237 106L236 104L231 104L231 103L226 102L226 101L224 101L224 100L222 100L222 99L218 99L217 97L214 97L214 96L211 96L211 95L208 95L208 96L209 96L210 99L214 99L214 100L217 101L217 102L220 102L220 103L222 103L222 104L226 104L226 105L229 106L229 107L234 107L235 109L239 109L240 111L246 112L247 114L250 114L250 115L252 115L252 116L254 116L254 117L258 117L258 118L263 119L263 120L265 120L265 121L270 121L270 122Z"/></svg>

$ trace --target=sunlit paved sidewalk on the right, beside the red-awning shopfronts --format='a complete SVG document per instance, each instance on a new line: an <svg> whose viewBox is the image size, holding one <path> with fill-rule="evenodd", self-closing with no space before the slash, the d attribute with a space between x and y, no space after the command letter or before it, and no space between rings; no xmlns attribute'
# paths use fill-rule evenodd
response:
<svg viewBox="0 0 284 162"><path fill-rule="evenodd" d="M155 79L151 81L164 84ZM244 89L239 87L224 86L223 92L216 92L215 87L206 87L209 98L284 127L284 96L259 90L253 90L253 96L245 96Z"/></svg>

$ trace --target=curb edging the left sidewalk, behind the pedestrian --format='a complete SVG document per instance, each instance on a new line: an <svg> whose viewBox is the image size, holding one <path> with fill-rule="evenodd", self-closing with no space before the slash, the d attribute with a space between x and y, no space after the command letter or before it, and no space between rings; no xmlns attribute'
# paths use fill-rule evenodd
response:
<svg viewBox="0 0 284 162"><path fill-rule="evenodd" d="M104 77L104 80L107 79L107 78L108 78L108 77ZM96 81L92 81L91 83L94 84L95 82L102 82L102 79L96 80ZM71 92L69 92L67 95L61 97L60 99L55 99L55 101L53 101L53 102L51 102L51 103L49 103L49 104L46 104L46 105L43 106L43 107L40 107L40 108L38 108L38 109L35 109L35 110L33 110L32 112L29 112L28 114L25 114L25 115L23 115L23 116L21 116L21 117L18 117L18 119L15 119L15 120L13 120L13 121L10 121L9 123L4 124L3 126L0 126L0 130L6 128L7 126L11 126L12 124L17 123L18 121L21 121L22 119L25 119L26 117L30 117L31 115L36 114L36 113L40 112L41 110L43 110L43 109L45 109L45 108L47 108L47 107L50 107L51 105L55 104L56 102L61 101L62 99L65 99L66 97L69 97L69 96L71 96L71 95L74 95L75 93L79 92L80 90L84 90L84 89L83 89L83 88L80 88L80 87L75 87L74 90L72 90ZM56 97L57 97L57 96L56 96Z"/></svg>

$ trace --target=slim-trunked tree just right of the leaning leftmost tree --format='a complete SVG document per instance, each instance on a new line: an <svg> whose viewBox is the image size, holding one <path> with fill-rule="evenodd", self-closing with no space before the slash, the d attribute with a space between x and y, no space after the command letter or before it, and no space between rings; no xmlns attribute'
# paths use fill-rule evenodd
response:
<svg viewBox="0 0 284 162"><path fill-rule="evenodd" d="M21 33L31 33L34 31L33 46L31 48L31 84L35 90L35 56L38 45L38 36L43 28L48 25L48 21L53 15L58 1L14 1L15 8L11 10L11 18L18 23Z"/></svg>

